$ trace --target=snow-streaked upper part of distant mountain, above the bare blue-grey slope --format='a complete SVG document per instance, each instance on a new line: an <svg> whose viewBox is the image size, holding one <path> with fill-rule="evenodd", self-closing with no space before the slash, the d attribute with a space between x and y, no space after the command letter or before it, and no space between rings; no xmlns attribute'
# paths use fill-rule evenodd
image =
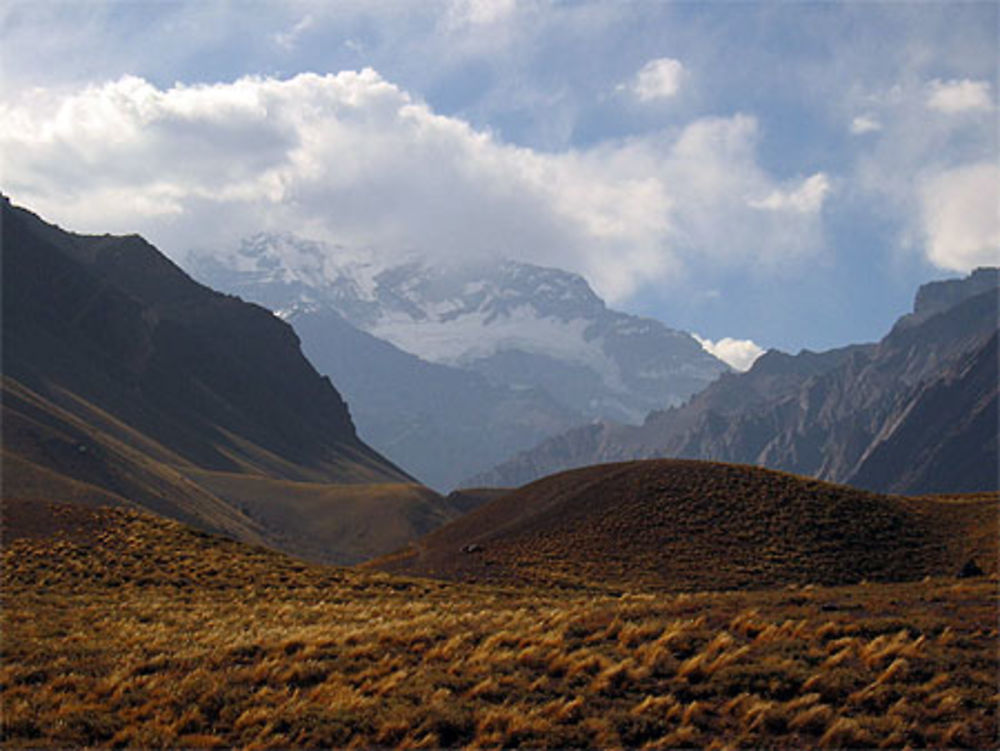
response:
<svg viewBox="0 0 1000 751"><path fill-rule="evenodd" d="M346 249L259 234L197 276L293 323L332 309L429 362L543 388L588 419L639 423L728 370L689 334L610 310L579 275L514 261L381 266Z"/></svg>

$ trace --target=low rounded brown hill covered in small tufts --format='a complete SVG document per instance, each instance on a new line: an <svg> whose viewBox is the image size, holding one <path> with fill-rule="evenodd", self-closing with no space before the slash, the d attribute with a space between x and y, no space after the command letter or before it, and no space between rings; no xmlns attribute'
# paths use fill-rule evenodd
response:
<svg viewBox="0 0 1000 751"><path fill-rule="evenodd" d="M996 494L907 499L749 466L635 461L539 480L369 565L677 590L912 580L970 558L995 570L996 540L981 531L996 523Z"/></svg>

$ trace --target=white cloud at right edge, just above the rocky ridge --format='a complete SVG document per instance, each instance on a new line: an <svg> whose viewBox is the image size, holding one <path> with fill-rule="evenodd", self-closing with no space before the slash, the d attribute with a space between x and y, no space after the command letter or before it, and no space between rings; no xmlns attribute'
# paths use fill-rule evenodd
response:
<svg viewBox="0 0 1000 751"><path fill-rule="evenodd" d="M948 170L922 186L927 256L950 271L1000 265L1000 167Z"/></svg>

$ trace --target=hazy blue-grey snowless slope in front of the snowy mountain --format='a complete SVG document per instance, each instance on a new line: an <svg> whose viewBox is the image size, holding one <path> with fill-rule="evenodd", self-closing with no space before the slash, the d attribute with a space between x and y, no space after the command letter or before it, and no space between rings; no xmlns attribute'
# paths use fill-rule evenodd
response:
<svg viewBox="0 0 1000 751"><path fill-rule="evenodd" d="M422 360L352 326L335 310L287 320L310 362L347 396L366 437L431 487L453 488L583 421L544 389L515 389Z"/></svg>

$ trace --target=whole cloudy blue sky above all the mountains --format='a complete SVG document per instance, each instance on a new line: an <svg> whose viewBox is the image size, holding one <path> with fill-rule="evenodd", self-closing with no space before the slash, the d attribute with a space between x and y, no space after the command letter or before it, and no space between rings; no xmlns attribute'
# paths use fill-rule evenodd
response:
<svg viewBox="0 0 1000 751"><path fill-rule="evenodd" d="M998 8L6 0L0 190L182 265L565 268L745 366L1000 264Z"/></svg>

